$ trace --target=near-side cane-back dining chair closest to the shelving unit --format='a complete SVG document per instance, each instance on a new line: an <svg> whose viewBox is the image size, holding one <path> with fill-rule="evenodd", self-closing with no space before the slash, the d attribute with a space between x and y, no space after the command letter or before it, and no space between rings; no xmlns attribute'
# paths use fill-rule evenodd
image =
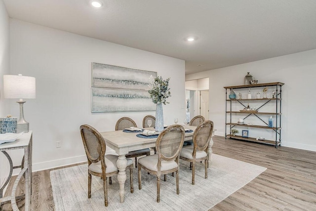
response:
<svg viewBox="0 0 316 211"><path fill-rule="evenodd" d="M193 133L193 145L184 146L180 152L180 159L189 161L190 169L192 167L192 184L195 183L195 167L196 162L204 161L205 163L205 179L207 179L208 168L208 144L211 140L214 123L205 121L195 129Z"/></svg>

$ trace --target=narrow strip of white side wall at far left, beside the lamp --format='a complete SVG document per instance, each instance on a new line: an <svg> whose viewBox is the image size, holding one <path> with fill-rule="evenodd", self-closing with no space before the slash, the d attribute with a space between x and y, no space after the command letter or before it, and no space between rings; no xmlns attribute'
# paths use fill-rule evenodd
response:
<svg viewBox="0 0 316 211"><path fill-rule="evenodd" d="M2 75L9 72L9 16L4 3L0 0L0 117L5 117L7 105L3 100ZM3 153L0 153L0 187L8 176L9 163Z"/></svg>

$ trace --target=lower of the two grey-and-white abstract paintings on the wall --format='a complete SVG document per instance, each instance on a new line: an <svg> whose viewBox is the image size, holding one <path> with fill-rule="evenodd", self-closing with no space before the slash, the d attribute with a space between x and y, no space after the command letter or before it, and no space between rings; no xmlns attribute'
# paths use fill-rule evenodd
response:
<svg viewBox="0 0 316 211"><path fill-rule="evenodd" d="M92 87L92 112L155 111L146 90Z"/></svg>

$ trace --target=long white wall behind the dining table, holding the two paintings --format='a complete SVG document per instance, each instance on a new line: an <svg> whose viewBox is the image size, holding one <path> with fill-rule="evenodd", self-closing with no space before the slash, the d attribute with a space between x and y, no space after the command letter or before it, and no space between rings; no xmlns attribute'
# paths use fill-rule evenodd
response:
<svg viewBox="0 0 316 211"><path fill-rule="evenodd" d="M10 74L32 76L37 83L36 99L24 104L25 119L34 133L34 170L86 161L79 133L82 124L109 131L124 116L140 127L143 117L155 116L154 111L92 114L91 62L170 77L172 96L163 106L165 123L185 116L183 60L10 19ZM18 106L10 112L17 116ZM62 141L61 148L56 148L56 141Z"/></svg>

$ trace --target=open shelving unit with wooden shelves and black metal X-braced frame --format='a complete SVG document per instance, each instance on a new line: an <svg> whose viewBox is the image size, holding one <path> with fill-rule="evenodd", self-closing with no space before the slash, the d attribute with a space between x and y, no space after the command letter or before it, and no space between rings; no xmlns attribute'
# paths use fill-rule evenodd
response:
<svg viewBox="0 0 316 211"><path fill-rule="evenodd" d="M237 85L237 86L225 86L224 88L226 89L226 115L225 115L225 138L233 138L237 140L245 140L245 141L252 141L252 142L257 142L257 143L265 143L265 144L270 144L270 145L275 145L277 146L281 145L281 93L282 93L282 85L284 85L281 82L274 82L274 83L265 83L265 84L248 84L248 85ZM267 87L267 86L274 86L276 90L276 98L260 98L260 99L229 99L228 98L228 93L233 89L245 89L245 88L252 88L252 87ZM229 89L230 91L227 92ZM240 103L243 108L246 108L247 106L245 104L249 102L261 102L262 105L259 106L259 108L256 108L256 110L251 110L251 111L232 111L232 104L233 103ZM275 109L271 112L260 112L260 109L262 109L264 106L267 105L267 103L272 102L275 104ZM259 123L263 124L260 125L241 125L238 123L232 122L232 117L237 117L237 116L244 115L243 119L246 119L250 117L251 115L257 117L256 119L258 120ZM270 115L275 117L275 127L268 127L268 122L263 120L262 116L264 115ZM268 118L266 118L268 119ZM260 121L259 121L260 120ZM253 127L253 128L260 128L260 129L268 129L271 130L271 132L275 133L275 140L257 140L255 137L242 137L235 135L233 136L232 134L232 129L234 127Z"/></svg>

